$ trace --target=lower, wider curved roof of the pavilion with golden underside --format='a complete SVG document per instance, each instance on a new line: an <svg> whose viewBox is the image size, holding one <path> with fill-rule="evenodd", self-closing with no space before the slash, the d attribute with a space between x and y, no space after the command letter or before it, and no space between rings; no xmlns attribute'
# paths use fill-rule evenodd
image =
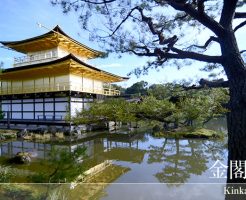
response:
<svg viewBox="0 0 246 200"><path fill-rule="evenodd" d="M85 76L105 80L106 82L120 82L129 79L127 77L117 76L115 74L93 67L81 61L73 54L69 54L63 58L50 62L3 69L2 73L0 74L0 78L14 79L21 77L22 74L23 76L30 75L34 77L59 73L72 73L79 75L83 74Z"/></svg>

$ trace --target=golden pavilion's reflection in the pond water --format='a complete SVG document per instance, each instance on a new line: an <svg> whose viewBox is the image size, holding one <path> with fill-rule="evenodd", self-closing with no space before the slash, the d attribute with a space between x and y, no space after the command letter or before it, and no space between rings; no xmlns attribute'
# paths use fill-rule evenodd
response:
<svg viewBox="0 0 246 200"><path fill-rule="evenodd" d="M73 140L62 144L9 141L0 143L0 156L13 157L17 152L31 152L35 156L30 164L31 169L37 162L48 159L53 147L66 148L70 152L78 147L86 147L86 158L81 163L88 173L82 180L84 183L69 191L66 185L61 187L66 187L63 189L67 191L70 199L99 199L105 195L108 184L131 170L114 161L142 162L145 150L139 149L139 142L144 137L144 134L106 134L90 140Z"/></svg>

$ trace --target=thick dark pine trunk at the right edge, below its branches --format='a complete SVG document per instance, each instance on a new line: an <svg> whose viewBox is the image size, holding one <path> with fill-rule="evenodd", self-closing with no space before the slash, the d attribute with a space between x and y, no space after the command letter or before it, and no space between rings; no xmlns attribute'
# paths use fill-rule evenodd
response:
<svg viewBox="0 0 246 200"><path fill-rule="evenodd" d="M246 162L246 68L231 29L221 39L223 66L229 81L230 102L228 126L228 183L246 182L246 174L235 177L231 162ZM238 165L239 166L239 165ZM246 166L245 166L246 167ZM244 167L244 168L245 168ZM242 171L245 171L242 169ZM243 178L245 175L245 178Z"/></svg>

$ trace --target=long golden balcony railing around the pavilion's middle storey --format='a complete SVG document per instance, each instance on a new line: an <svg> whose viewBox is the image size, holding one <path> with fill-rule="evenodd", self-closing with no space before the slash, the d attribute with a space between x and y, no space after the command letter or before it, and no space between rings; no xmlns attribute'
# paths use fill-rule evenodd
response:
<svg viewBox="0 0 246 200"><path fill-rule="evenodd" d="M120 95L119 90L111 88L90 88L82 87L81 85L75 85L70 83L57 83L55 85L41 85L41 86L24 86L24 87L10 87L0 88L1 95L8 94L27 94L27 93L40 93L40 92L58 92L58 91L78 91L92 94L102 94L107 96Z"/></svg>

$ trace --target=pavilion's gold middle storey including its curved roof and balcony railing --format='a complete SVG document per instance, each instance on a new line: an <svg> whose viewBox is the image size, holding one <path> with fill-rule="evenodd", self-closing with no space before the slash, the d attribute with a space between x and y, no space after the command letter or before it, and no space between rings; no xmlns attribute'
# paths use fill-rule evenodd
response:
<svg viewBox="0 0 246 200"><path fill-rule="evenodd" d="M110 83L127 78L97 69L69 54L46 63L3 70L0 79L1 95L78 91L113 96L120 93Z"/></svg>

